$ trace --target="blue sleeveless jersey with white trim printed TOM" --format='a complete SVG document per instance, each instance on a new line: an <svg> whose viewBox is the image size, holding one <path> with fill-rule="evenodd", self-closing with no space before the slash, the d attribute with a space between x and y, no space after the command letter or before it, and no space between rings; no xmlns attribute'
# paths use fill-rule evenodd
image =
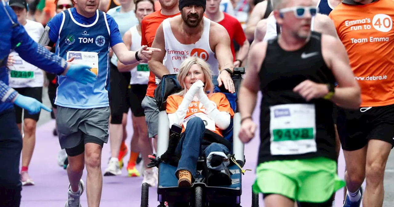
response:
<svg viewBox="0 0 394 207"><path fill-rule="evenodd" d="M56 91L55 104L69 108L100 108L109 106L109 51L110 28L106 13L97 10L92 24L81 24L72 16L71 9L62 11L63 20L59 30L56 53L68 59L67 52L74 60L81 60L82 52L98 53L98 74L93 84L80 84L60 75Z"/></svg>

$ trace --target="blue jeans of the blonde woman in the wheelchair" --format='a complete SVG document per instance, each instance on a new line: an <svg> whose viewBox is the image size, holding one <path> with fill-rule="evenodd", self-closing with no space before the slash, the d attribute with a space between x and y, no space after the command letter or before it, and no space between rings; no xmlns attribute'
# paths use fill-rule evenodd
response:
<svg viewBox="0 0 394 207"><path fill-rule="evenodd" d="M223 144L212 143L210 145L202 145L205 132L205 125L201 118L194 117L188 121L188 125L179 140L175 153L180 152L177 172L179 170L188 170L193 178L197 172L198 157L204 155L208 157L211 152L223 152L229 154L229 149Z"/></svg>

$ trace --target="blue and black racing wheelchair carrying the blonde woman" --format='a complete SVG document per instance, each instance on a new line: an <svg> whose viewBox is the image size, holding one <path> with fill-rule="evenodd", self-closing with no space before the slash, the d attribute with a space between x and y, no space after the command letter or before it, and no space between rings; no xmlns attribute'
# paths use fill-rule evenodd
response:
<svg viewBox="0 0 394 207"><path fill-rule="evenodd" d="M232 80L236 91L240 87L242 75L245 73L245 68L234 68ZM155 91L155 98L158 101L159 112L159 128L158 128L158 149L155 156L150 157L151 163L148 167L158 167L158 188L157 198L160 204L158 207L165 207L165 201L169 207L241 207L242 194L242 170L245 164L244 144L238 138L240 131L241 115L236 108L236 94L229 93L224 86L217 87L217 76L212 76L214 82L215 92L224 93L230 102L231 108L235 114L231 120L230 126L223 131L223 136L232 142L232 150L230 150L232 157L228 166L230 172L231 184L229 185L207 185L206 171L204 164L206 160L204 157L199 157L197 161L197 173L194 183L191 187L178 187L178 179L175 176L177 167L167 162L161 162L160 157L169 149L169 142L171 136L174 135L173 128L169 129L168 115L165 111L165 99L168 95L180 90L176 75L165 75L162 78L158 88ZM178 129L178 136L180 136ZM235 163L236 162L236 163ZM141 207L148 207L149 201L149 185L143 183L141 188ZM252 207L258 207L258 194L252 194Z"/></svg>

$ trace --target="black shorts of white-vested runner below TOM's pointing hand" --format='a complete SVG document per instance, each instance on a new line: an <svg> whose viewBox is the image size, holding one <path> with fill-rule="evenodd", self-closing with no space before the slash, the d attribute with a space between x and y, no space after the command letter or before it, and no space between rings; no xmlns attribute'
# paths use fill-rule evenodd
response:
<svg viewBox="0 0 394 207"><path fill-rule="evenodd" d="M142 100L147 93L148 85L133 84L130 88L131 112L135 117L145 116L144 109L141 106Z"/></svg>

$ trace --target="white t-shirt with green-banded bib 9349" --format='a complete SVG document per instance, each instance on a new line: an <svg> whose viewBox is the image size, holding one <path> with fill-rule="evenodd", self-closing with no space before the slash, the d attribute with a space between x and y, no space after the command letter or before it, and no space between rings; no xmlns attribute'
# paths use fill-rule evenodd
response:
<svg viewBox="0 0 394 207"><path fill-rule="evenodd" d="M29 36L36 42L44 32L44 26L38 22L26 20L23 26ZM12 51L10 54L15 63L9 66L9 86L11 88L43 87L44 74L38 67L24 61L19 54Z"/></svg>

